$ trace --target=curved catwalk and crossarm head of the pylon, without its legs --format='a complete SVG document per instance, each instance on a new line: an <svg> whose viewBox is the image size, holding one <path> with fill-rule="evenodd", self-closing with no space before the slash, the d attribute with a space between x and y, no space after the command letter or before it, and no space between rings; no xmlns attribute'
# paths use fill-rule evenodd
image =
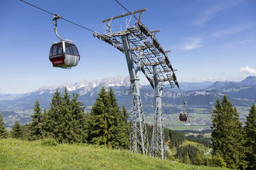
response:
<svg viewBox="0 0 256 170"><path fill-rule="evenodd" d="M151 84L152 88L154 88L152 69L153 65L157 66L159 82L169 82L171 87L174 87L175 85L179 87L175 76L175 69L173 69L171 66L171 62L167 56L167 53L170 51L164 51L156 39L156 32L159 32L159 29L156 31L149 31L149 29L140 21L136 21L136 26L127 27L122 31L113 32L111 29L111 23L115 19L136 13L140 13L141 16L141 13L145 10L147 9L145 8L103 20L103 22L107 25L107 34L94 32L94 37L109 43L122 53L125 53L122 44L122 36L128 35L129 45L131 46L132 59L135 63L140 62L141 71L144 73L145 77L147 77L147 80Z"/></svg>

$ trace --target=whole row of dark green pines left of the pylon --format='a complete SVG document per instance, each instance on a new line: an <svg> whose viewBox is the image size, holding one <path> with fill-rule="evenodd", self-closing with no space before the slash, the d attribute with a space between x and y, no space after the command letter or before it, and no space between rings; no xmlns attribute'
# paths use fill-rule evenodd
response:
<svg viewBox="0 0 256 170"><path fill-rule="evenodd" d="M129 147L129 122L125 106L120 109L112 88L107 92L101 88L91 112L85 112L78 95L70 97L67 88L64 94L56 90L48 110L34 104L32 122L20 125L14 123L9 136L29 141L54 138L58 143L89 143L111 148ZM0 115L0 137L8 137L3 118Z"/></svg>

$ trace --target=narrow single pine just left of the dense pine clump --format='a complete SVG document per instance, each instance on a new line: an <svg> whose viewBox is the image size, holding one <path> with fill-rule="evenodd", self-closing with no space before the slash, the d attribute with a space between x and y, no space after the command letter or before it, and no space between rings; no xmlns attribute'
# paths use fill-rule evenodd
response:
<svg viewBox="0 0 256 170"><path fill-rule="evenodd" d="M31 118L32 122L28 125L28 139L34 141L43 138L42 112L38 100L34 104L34 113Z"/></svg>

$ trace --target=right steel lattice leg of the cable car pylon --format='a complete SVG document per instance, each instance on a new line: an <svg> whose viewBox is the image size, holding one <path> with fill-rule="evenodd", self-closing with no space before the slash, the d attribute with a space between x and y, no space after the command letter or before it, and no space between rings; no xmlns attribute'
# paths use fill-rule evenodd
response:
<svg viewBox="0 0 256 170"><path fill-rule="evenodd" d="M153 66L153 78L156 95L156 112L153 124L151 152L152 156L157 156L161 159L164 159L166 157L166 150L164 143L164 128L162 125L162 84L158 82L158 73L156 70L156 66Z"/></svg>

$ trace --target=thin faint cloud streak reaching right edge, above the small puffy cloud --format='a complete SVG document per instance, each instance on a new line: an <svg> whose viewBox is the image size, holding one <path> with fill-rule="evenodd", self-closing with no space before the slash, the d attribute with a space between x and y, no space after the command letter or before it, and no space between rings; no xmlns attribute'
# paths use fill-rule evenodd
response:
<svg viewBox="0 0 256 170"><path fill-rule="evenodd" d="M237 25L235 27L230 27L230 28L223 29L223 30L220 30L218 32L215 32L213 34L213 36L217 37L217 36L226 36L228 34L235 34L237 32L242 32L246 29L250 29L250 28L255 27L255 26L256 26L256 22Z"/></svg>

